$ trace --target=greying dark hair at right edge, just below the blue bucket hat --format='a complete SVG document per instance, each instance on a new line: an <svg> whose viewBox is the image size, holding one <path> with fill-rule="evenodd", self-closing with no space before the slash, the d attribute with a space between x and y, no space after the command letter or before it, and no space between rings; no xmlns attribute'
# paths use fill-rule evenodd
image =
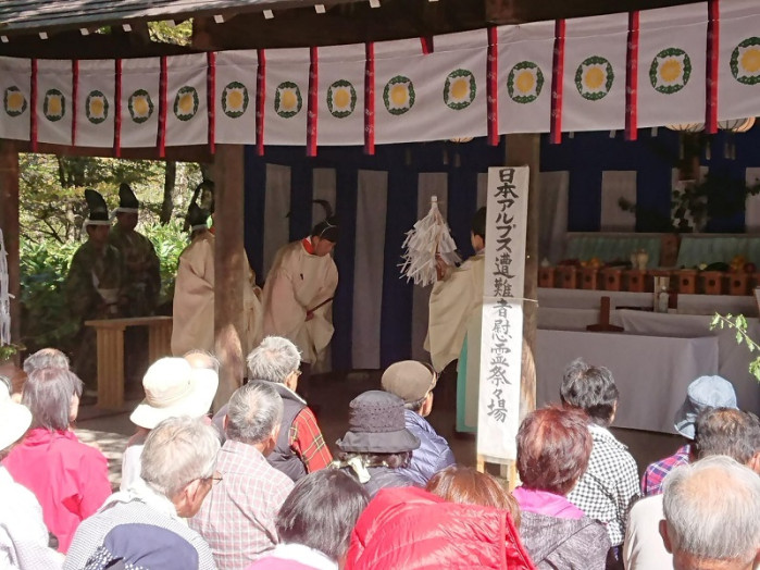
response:
<svg viewBox="0 0 760 570"><path fill-rule="evenodd" d="M725 455L760 474L760 420L733 408L709 408L695 425L692 453L697 459Z"/></svg>

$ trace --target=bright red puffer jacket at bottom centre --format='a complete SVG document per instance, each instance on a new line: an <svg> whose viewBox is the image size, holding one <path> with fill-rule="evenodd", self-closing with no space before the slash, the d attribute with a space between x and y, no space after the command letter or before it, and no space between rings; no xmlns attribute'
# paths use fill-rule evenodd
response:
<svg viewBox="0 0 760 570"><path fill-rule="evenodd" d="M400 568L535 570L507 511L385 488L357 521L346 569Z"/></svg>

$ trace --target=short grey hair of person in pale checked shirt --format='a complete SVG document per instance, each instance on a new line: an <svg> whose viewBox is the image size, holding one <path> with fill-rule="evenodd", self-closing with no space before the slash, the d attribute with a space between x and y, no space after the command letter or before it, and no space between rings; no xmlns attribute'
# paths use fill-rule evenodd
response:
<svg viewBox="0 0 760 570"><path fill-rule="evenodd" d="M283 421L283 398L269 382L252 381L229 398L226 434L228 439L258 444Z"/></svg>

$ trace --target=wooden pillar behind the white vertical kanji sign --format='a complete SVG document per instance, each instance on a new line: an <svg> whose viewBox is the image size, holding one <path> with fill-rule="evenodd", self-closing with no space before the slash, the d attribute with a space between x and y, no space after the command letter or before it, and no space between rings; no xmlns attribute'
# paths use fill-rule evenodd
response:
<svg viewBox="0 0 760 570"><path fill-rule="evenodd" d="M507 165L528 166L527 235L525 239L525 299L538 298L538 200L540 137L536 134L507 135ZM536 367L533 356L538 329L538 303L523 303L523 371L520 418L536 408Z"/></svg>

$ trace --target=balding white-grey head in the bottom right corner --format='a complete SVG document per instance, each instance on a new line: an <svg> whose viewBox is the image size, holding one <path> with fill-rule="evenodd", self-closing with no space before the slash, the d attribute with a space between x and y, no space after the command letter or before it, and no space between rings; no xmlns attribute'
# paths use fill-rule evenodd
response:
<svg viewBox="0 0 760 570"><path fill-rule="evenodd" d="M760 544L760 478L726 456L674 469L663 510L673 554L751 561Z"/></svg>

